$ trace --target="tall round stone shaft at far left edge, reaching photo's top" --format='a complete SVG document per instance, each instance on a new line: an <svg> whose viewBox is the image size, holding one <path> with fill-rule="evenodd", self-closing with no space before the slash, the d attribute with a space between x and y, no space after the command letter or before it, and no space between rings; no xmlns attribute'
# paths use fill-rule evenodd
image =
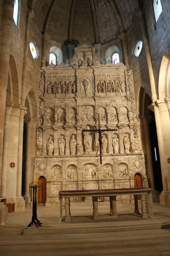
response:
<svg viewBox="0 0 170 256"><path fill-rule="evenodd" d="M8 70L11 51L12 24L13 24L13 0L3 1L3 13L0 30L0 163L2 163L3 140L4 140L4 119L6 104L6 88L8 83ZM0 165L0 180L2 166ZM1 186L1 184L0 184Z"/></svg>

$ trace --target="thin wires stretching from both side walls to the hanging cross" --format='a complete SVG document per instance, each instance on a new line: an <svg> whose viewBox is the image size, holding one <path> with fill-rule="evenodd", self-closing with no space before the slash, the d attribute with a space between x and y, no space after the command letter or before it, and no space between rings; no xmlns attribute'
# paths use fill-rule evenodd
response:
<svg viewBox="0 0 170 256"><path fill-rule="evenodd" d="M6 89L6 91L9 92L7 89ZM12 95L18 97L18 98L21 99L21 100L24 100L24 99L22 99L21 97L19 97L18 95L12 93L12 92L9 92L9 93L11 93ZM169 96L168 98L166 98L166 100L169 99L169 98L170 98L170 96ZM28 104L30 104L30 105L36 107L36 108L39 108L39 107L37 107L36 105L34 105L34 104L32 104L32 103L30 103L30 102L28 102L28 101L26 101L26 100L24 100L24 101L27 102ZM162 103L162 102L164 102L164 101L165 101L165 100L162 100L162 101L159 102L157 105L153 106L153 108L156 107L156 106L158 106L160 103ZM50 114L50 115L52 115L52 116L54 116L54 117L57 117L57 118L63 120L63 121L66 122L66 123L72 124L72 125L74 125L74 126L80 128L80 129L82 129L82 130L86 130L86 129L82 128L81 126L78 126L78 125L76 125L76 124L73 124L73 123L71 123L71 122L69 122L69 121L65 121L63 118L61 118L61 117L59 117L59 116L55 116L54 114L51 114L51 113L49 113L48 111L46 111L46 110L44 110L44 109L42 109L42 108L39 108L39 109L41 109L42 111L44 111L44 112L46 112L46 113L48 113L48 114ZM120 124L120 125L115 126L115 128L117 128L117 127L119 127L119 126L122 126L122 125L124 125L124 124L126 124L126 123L129 123L131 120L134 120L134 119L136 119L137 117L144 115L144 113L148 112L149 110L150 110L150 109L147 109L147 110L144 111L142 114L139 114L139 115L133 117L132 119L129 119L127 122L125 122L125 123L123 123L123 124ZM112 128L112 129L115 129L115 128Z"/></svg>

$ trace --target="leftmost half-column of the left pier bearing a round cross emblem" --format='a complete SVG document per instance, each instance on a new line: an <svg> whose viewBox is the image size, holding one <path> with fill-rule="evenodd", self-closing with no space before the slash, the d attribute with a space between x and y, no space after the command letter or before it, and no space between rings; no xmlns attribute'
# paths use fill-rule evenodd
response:
<svg viewBox="0 0 170 256"><path fill-rule="evenodd" d="M4 125L4 145L2 156L2 176L1 176L1 197L6 196L6 179L7 179L7 158L8 158L8 138L9 138L9 120L12 112L13 103L6 106L5 125Z"/></svg>

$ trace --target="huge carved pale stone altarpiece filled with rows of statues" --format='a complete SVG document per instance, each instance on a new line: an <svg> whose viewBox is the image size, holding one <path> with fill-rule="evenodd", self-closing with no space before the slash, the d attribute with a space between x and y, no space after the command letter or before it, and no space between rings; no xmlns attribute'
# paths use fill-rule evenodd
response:
<svg viewBox="0 0 170 256"><path fill-rule="evenodd" d="M34 166L46 178L46 205L58 204L60 190L133 188L137 172L148 186L133 74L123 63L102 65L92 45L78 45L67 65L40 68L39 107ZM90 131L98 113L101 129L117 129L102 136L102 165L98 134Z"/></svg>

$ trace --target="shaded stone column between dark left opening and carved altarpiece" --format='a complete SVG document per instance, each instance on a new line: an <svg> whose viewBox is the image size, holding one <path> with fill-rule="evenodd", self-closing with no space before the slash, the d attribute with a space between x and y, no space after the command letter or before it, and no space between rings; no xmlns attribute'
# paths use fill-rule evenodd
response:
<svg viewBox="0 0 170 256"><path fill-rule="evenodd" d="M29 195L29 186L30 186L30 171L31 171L31 163L30 163L30 151L31 151L31 129L32 122L26 121L26 170L25 170L25 206L29 206L31 200Z"/></svg>

